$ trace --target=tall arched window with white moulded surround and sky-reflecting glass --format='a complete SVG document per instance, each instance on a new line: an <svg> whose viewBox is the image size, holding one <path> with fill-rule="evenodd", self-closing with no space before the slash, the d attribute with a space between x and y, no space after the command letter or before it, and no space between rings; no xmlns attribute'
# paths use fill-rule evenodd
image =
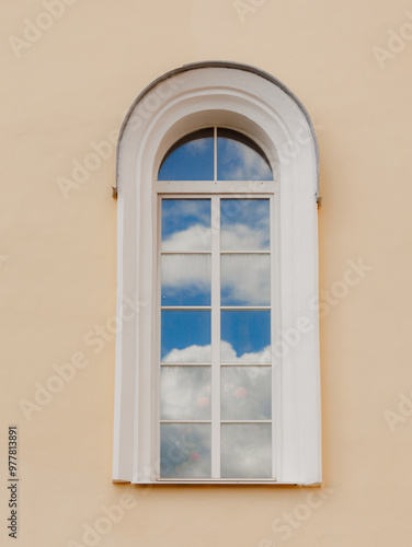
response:
<svg viewBox="0 0 412 547"><path fill-rule="evenodd" d="M215 63L154 82L125 120L115 480L321 480L317 146L299 106Z"/></svg>

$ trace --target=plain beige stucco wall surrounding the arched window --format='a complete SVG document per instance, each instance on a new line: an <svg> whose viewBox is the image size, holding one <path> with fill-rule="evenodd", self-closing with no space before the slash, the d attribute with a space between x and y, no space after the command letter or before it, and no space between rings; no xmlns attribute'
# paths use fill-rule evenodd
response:
<svg viewBox="0 0 412 547"><path fill-rule="evenodd" d="M398 405L412 387L410 2L244 0L242 21L232 0L70 1L52 23L41 1L1 5L1 545L16 423L24 547L409 546L412 407ZM27 34L26 18L50 27ZM388 48L389 30L407 40L385 54L376 46ZM153 79L207 59L271 72L313 118L321 289L337 291L347 260L371 268L321 319L318 494L111 481L115 347L93 353L84 337L115 314L115 154L68 199L57 179L113 138ZM78 352L88 364L28 421L22 399ZM121 499L128 509L107 532L102 505Z"/></svg>

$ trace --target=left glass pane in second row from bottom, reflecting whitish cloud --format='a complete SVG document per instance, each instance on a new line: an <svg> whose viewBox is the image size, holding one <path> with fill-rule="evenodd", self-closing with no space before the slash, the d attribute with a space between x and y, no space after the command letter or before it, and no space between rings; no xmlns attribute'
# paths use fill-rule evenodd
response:
<svg viewBox="0 0 412 547"><path fill-rule="evenodd" d="M210 419L210 366L162 366L160 418Z"/></svg>

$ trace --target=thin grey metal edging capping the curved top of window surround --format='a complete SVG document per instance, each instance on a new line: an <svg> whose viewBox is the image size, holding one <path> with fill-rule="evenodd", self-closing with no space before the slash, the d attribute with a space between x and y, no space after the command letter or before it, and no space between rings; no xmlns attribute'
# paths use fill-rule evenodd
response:
<svg viewBox="0 0 412 547"><path fill-rule="evenodd" d="M232 61L202 61L202 62L193 62L188 65L184 65L183 67L170 70L169 72L162 74L161 77L157 78L153 82L151 82L134 101L131 104L130 108L128 109L125 119L123 121L119 136L118 136L118 141L117 141L117 154L116 154L116 186L113 188L114 190L114 196L117 196L117 189L118 189L118 179L119 179L119 155L121 155L121 147L123 142L123 138L125 135L126 127L134 114L134 112L139 107L140 103L147 95L154 90L156 86L159 84L172 79L173 77L178 77L180 74L183 74L185 72L194 71L194 70L199 70L199 69L210 69L210 68L218 68L218 69L232 69L232 70L238 70L238 71L243 71L248 73L255 74L259 78L262 78L268 82L271 82L273 85L275 85L278 90L284 92L297 106L297 108L300 110L302 116L305 117L309 130L310 130L310 138L313 144L314 149L314 155L316 155L316 198L317 200L319 199L319 146L318 146L318 140L317 136L314 132L313 124L312 120L309 116L308 110L305 108L304 104L284 84L282 83L277 78L273 77L272 74L256 68L252 67L250 65L243 65L240 62L232 62Z"/></svg>

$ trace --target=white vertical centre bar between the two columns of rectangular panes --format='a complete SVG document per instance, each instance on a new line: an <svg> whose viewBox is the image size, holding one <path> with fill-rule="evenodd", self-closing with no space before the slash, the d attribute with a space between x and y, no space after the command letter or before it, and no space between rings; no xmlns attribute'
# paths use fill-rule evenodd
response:
<svg viewBox="0 0 412 547"><path fill-rule="evenodd" d="M220 198L211 198L211 478L220 478Z"/></svg>

